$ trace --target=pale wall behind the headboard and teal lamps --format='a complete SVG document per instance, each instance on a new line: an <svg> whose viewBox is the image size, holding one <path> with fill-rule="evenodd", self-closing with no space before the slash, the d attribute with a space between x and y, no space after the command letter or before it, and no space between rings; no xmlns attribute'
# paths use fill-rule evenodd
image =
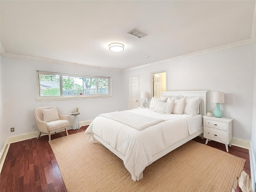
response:
<svg viewBox="0 0 256 192"><path fill-rule="evenodd" d="M224 117L234 119L233 138L251 140L254 64L255 43L128 70L123 78L127 81L139 74L140 92L150 93L150 73L168 70L167 91L207 90L206 110L212 111L216 105L212 103L212 92L224 92L225 103L220 108ZM128 103L127 86L124 93Z"/></svg>

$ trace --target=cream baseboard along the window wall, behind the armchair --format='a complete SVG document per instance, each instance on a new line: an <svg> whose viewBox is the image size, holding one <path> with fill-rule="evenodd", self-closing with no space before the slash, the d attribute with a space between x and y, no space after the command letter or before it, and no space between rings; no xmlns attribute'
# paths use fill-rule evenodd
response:
<svg viewBox="0 0 256 192"><path fill-rule="evenodd" d="M86 125L90 125L90 123L92 122L92 120L88 120L88 121L82 121L79 122L80 127L81 126L86 126ZM68 125L68 129L71 129L72 125ZM29 132L29 133L24 133L24 134L20 134L20 135L16 135L16 136L11 136L8 137L6 139L6 142L4 143L4 147L2 148L2 151L0 153L0 172L2 170L3 164L4 164L4 160L6 158L7 152L9 150L10 144L11 143L15 143L15 142L19 142L19 141L24 141L27 139L32 139L32 138L36 138L38 136L38 130L33 131L33 132ZM42 133L41 136L47 135L46 133Z"/></svg>

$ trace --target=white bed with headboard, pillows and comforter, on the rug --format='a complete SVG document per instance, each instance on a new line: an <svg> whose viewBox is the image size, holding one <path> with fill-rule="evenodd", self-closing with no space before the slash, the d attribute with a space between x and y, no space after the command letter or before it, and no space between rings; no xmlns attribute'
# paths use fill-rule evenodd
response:
<svg viewBox="0 0 256 192"><path fill-rule="evenodd" d="M162 92L161 102L152 98L150 108L97 116L86 129L86 135L88 140L92 138L93 143L94 139L98 140L122 159L132 180L138 181L143 178L143 170L162 156L199 135L203 138L202 116L206 115L206 92ZM188 106L187 101L195 99L198 101L198 106L193 106L197 111L195 114L172 114L174 108L177 111L178 102L186 100ZM157 102L155 106L154 102ZM171 106L166 107L167 104L176 107L172 106L173 110L170 111L168 108Z"/></svg>

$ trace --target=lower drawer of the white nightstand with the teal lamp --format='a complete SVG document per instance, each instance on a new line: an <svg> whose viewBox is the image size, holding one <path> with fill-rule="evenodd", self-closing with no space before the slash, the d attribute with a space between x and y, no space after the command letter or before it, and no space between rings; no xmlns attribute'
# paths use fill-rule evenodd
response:
<svg viewBox="0 0 256 192"><path fill-rule="evenodd" d="M213 129L210 127L204 127L204 136L212 140L218 140L221 142L227 142L227 132L222 130Z"/></svg>

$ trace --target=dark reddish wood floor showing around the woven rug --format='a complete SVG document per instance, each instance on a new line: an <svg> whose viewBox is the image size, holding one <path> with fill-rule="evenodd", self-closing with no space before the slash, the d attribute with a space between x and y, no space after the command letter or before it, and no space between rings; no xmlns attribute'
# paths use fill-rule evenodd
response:
<svg viewBox="0 0 256 192"><path fill-rule="evenodd" d="M68 130L74 134L86 130ZM65 132L52 135L52 140L65 136ZM200 137L194 139L205 143ZM225 145L218 142L208 142L209 146L226 151ZM244 158L244 170L250 175L249 151L236 146L229 147L229 153ZM58 164L48 143L48 136L10 144L8 154L0 173L1 192L66 192ZM240 190L237 189L237 192Z"/></svg>

